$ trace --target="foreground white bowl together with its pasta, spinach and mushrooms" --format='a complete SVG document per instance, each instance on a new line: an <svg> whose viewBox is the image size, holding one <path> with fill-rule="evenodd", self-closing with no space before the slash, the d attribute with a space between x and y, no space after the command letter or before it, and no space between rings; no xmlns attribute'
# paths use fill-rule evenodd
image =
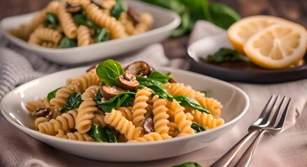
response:
<svg viewBox="0 0 307 167"><path fill-rule="evenodd" d="M204 148L248 105L241 89L218 79L109 59L30 81L3 97L0 109L22 131L71 154L149 161Z"/></svg>

